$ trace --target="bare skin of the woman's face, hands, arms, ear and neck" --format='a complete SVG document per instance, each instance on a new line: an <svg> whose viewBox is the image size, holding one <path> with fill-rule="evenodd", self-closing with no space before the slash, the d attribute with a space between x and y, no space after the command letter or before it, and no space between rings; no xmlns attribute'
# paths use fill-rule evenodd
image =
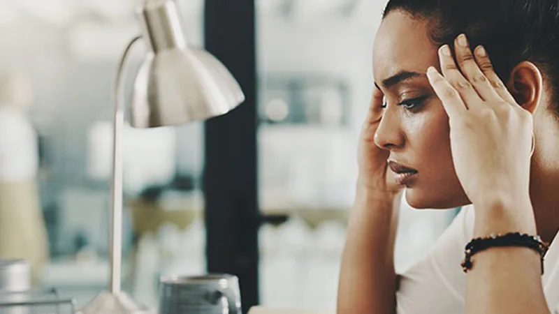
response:
<svg viewBox="0 0 559 314"><path fill-rule="evenodd" d="M479 54L479 47L474 57L472 47L458 40L453 46L456 50L447 46L450 54L445 54L430 42L426 21L399 11L379 28L373 52L378 88L361 135L356 202L340 274L340 314L395 313L393 248L403 189L417 208L473 203L474 237L525 232L549 242L558 230L553 209L559 202L559 126L542 73L525 61L502 82L491 56ZM386 84L402 70L419 75ZM421 105L402 105L418 96L424 96ZM418 174L398 186L387 160ZM549 313L537 253L492 248L474 258L467 276L467 313Z"/></svg>

